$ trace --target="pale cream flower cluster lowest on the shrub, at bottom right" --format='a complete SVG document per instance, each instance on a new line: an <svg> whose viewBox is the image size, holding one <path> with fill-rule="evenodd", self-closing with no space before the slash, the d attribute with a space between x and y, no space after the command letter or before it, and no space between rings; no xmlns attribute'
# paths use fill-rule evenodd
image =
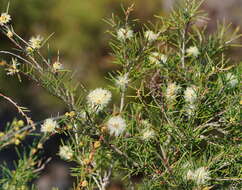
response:
<svg viewBox="0 0 242 190"><path fill-rule="evenodd" d="M205 167L200 167L195 171L188 170L187 180L194 181L197 185L204 185L210 179L209 172Z"/></svg>

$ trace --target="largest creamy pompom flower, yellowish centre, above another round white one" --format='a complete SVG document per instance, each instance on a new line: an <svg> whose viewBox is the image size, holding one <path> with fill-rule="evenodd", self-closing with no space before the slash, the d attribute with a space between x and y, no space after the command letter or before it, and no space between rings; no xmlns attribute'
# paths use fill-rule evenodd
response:
<svg viewBox="0 0 242 190"><path fill-rule="evenodd" d="M97 88L87 95L87 103L93 111L101 111L108 105L112 97L110 91Z"/></svg>

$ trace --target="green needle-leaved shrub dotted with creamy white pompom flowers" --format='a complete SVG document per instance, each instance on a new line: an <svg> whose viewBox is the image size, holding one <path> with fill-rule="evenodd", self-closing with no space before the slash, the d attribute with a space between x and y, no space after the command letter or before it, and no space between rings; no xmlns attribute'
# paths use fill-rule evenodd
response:
<svg viewBox="0 0 242 190"><path fill-rule="evenodd" d="M229 50L241 35L225 24L208 34L201 3L186 0L155 24L130 19L133 6L124 18L105 20L118 70L109 73L109 86L91 90L59 56L55 62L44 56L49 37L21 38L8 11L2 13L1 32L17 48L0 51L12 59L3 64L6 74L28 76L69 109L34 123L1 94L26 119L26 126L15 121L1 133L1 148L37 136L15 171L3 167L3 189L35 188L28 185L38 174L43 143L56 133L69 137L58 155L75 163L73 189L111 189L117 178L127 189L240 188L241 65ZM28 175L16 177L23 168Z"/></svg>

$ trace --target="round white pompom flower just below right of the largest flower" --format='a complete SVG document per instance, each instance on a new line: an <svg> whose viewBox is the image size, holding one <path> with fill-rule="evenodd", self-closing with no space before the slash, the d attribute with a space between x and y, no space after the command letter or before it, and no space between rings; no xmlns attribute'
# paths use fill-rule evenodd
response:
<svg viewBox="0 0 242 190"><path fill-rule="evenodd" d="M107 126L111 135L119 136L126 129L126 122L121 116L114 116L108 120Z"/></svg>

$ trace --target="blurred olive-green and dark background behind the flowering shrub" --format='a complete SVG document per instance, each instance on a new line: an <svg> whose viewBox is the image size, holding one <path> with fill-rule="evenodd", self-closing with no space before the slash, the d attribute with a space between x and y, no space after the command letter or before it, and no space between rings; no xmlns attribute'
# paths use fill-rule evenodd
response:
<svg viewBox="0 0 242 190"><path fill-rule="evenodd" d="M50 40L53 61L59 50L60 61L78 72L80 82L89 88L96 88L107 84L104 76L115 68L109 55L110 36L105 33L109 26L102 19L111 17L112 13L122 16L121 4L128 6L132 2L135 2L132 17L138 18L140 22L148 22L155 21L154 15L167 15L175 0L12 0L9 13L15 31L26 40L33 35L47 37L54 32ZM6 10L7 3L8 0L0 0L0 12ZM234 27L242 25L242 0L207 0L203 9L210 18L210 32L216 29L217 20L225 19L232 22ZM0 34L0 49L10 48L11 44ZM240 52L233 53L236 59L241 60ZM0 55L0 61L5 59L8 60ZM12 97L19 105L29 108L34 121L66 111L59 100L31 81L22 79L23 82L19 83L16 77L7 76L1 68L0 91ZM11 105L0 99L0 131L14 117L20 118ZM58 151L58 139L56 137L48 142L48 149L45 148L46 157L53 156ZM12 147L0 152L0 164L7 160L11 167L14 159L16 155ZM60 190L65 190L69 185L67 167L58 158L54 160L43 174L42 181L38 183L54 183L61 187ZM57 168L60 175L56 175ZM45 190L48 190L47 186Z"/></svg>

